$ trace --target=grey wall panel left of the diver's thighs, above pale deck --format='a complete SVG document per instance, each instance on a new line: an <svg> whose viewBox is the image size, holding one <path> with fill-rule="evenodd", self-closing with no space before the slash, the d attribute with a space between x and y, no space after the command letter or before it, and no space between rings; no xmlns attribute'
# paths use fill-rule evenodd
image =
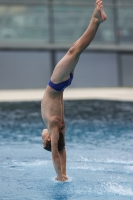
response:
<svg viewBox="0 0 133 200"><path fill-rule="evenodd" d="M44 88L50 66L48 52L0 52L0 89Z"/></svg>

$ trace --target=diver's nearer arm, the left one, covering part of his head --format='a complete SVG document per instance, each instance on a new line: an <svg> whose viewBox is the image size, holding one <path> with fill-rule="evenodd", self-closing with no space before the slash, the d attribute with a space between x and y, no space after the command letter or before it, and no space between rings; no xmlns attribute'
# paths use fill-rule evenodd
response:
<svg viewBox="0 0 133 200"><path fill-rule="evenodd" d="M61 162L60 162L60 156L58 152L58 140L59 140L58 131L52 131L52 136L51 136L52 160L53 160L53 165L57 174L57 179L59 181L62 181Z"/></svg>

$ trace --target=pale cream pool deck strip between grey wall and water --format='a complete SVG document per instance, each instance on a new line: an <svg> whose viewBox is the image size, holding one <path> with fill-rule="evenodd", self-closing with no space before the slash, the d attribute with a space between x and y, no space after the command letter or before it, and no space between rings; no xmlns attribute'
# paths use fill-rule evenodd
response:
<svg viewBox="0 0 133 200"><path fill-rule="evenodd" d="M40 101L43 89L0 90L0 102ZM133 102L133 88L68 88L64 92L65 100L114 100Z"/></svg>

